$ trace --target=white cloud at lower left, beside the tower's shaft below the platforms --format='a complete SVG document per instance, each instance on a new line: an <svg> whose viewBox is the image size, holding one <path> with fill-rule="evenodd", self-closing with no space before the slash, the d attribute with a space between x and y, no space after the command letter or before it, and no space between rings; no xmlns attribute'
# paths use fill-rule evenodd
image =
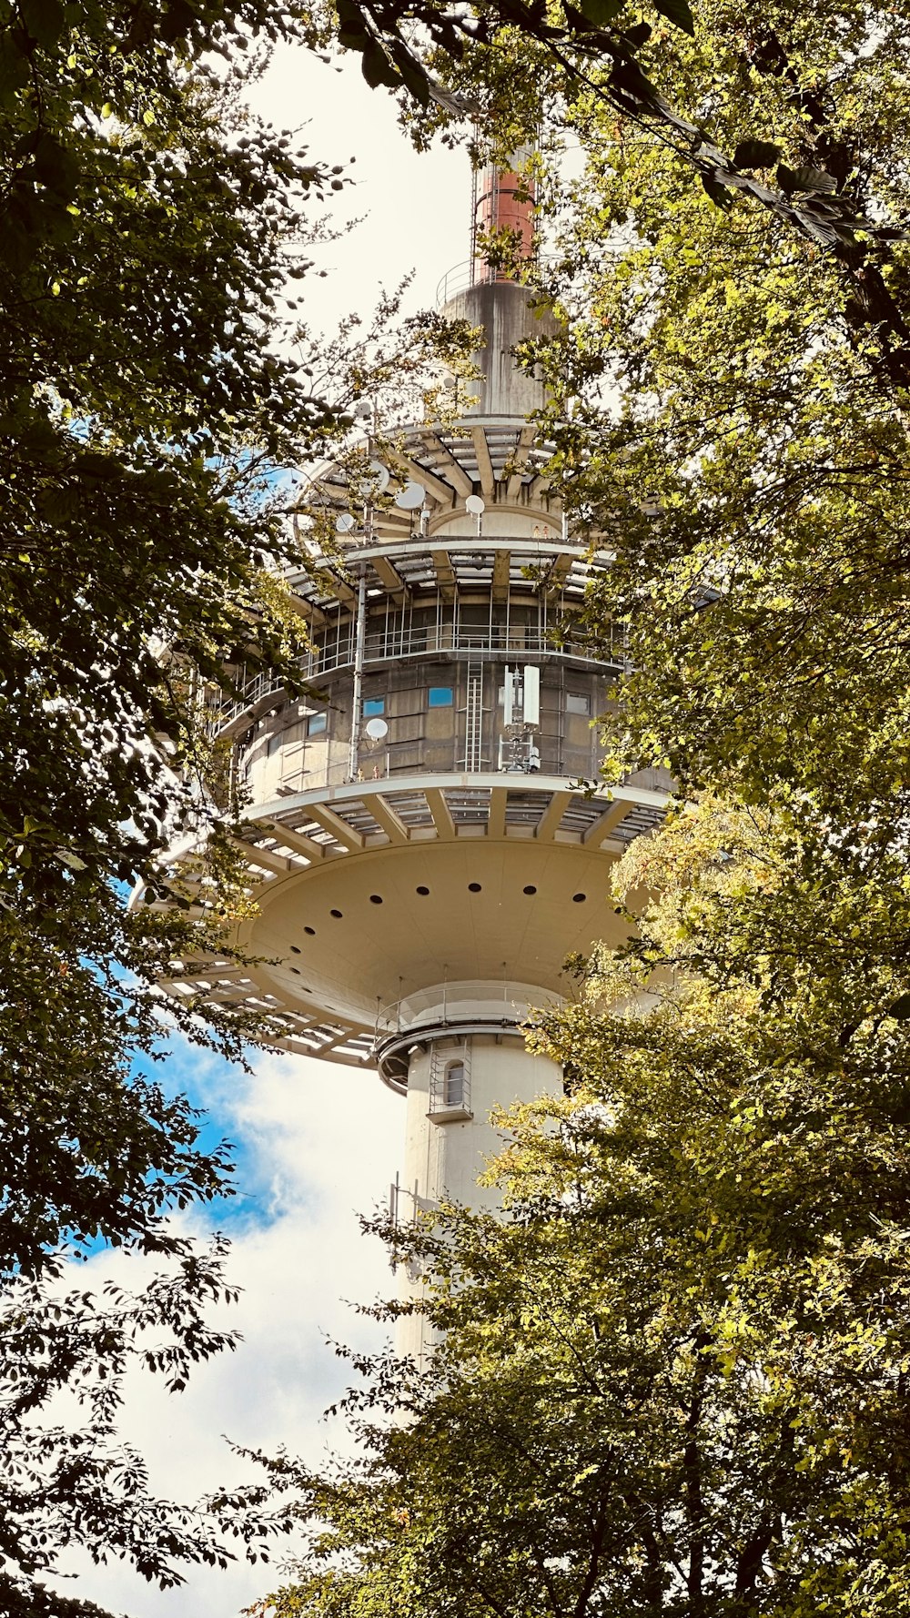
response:
<svg viewBox="0 0 910 1618"><path fill-rule="evenodd" d="M222 1434L266 1451L283 1443L313 1463L343 1440L322 1413L350 1372L325 1336L359 1346L382 1341L381 1328L345 1299L364 1302L389 1290L384 1251L361 1236L356 1214L387 1196L403 1129L403 1103L376 1074L298 1057L264 1057L246 1081L206 1063L193 1089L243 1141L254 1223L235 1238L230 1259L230 1280L243 1296L223 1324L243 1332L238 1351L201 1366L178 1396L147 1375L128 1385L123 1430L146 1455L152 1487L183 1500L253 1476ZM108 1273L134 1286L141 1267L104 1254L89 1275L79 1270L79 1285L99 1286ZM87 1558L68 1558L66 1569L78 1573L66 1581L70 1594L131 1618L230 1618L275 1582L274 1569L245 1563L228 1573L189 1571L172 1592L149 1587L120 1563L92 1568Z"/></svg>

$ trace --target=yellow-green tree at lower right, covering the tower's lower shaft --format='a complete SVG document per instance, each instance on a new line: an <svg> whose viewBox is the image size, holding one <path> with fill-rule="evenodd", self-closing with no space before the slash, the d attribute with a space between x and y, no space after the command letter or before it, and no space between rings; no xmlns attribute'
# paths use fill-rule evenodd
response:
<svg viewBox="0 0 910 1618"><path fill-rule="evenodd" d="M542 1021L572 1094L504 1120L504 1217L385 1230L444 1338L423 1377L364 1367L366 1456L279 1469L313 1542L262 1613L904 1610L910 1044L871 948L889 875L866 875L853 938L831 913L855 867L787 815L706 806L633 849L620 888L662 896Z"/></svg>

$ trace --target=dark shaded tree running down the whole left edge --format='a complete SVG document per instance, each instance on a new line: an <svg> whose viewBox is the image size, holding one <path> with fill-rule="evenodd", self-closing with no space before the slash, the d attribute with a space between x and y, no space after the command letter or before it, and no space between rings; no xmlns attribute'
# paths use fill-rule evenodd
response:
<svg viewBox="0 0 910 1618"><path fill-rule="evenodd" d="M228 1152L154 1079L154 984L206 947L198 900L232 903L230 859L215 837L172 916L125 900L167 883L162 835L225 809L212 775L199 790L199 680L300 644L259 584L283 544L275 479L337 413L282 354L277 296L308 267L301 209L342 181L243 113L238 68L206 66L296 32L256 0L0 6L5 1612L78 1610L39 1586L73 1542L160 1582L233 1555L235 1508L157 1502L115 1430L130 1362L178 1388L233 1345L204 1324L230 1296L222 1251L173 1222L230 1192ZM191 1039L240 1052L238 1026L193 1011ZM65 1293L63 1260L99 1243L162 1275Z"/></svg>

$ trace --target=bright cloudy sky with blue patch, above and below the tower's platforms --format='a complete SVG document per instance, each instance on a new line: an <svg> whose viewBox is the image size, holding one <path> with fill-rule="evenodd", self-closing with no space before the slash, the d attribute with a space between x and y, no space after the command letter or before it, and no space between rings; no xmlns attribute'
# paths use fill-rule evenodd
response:
<svg viewBox="0 0 910 1618"><path fill-rule="evenodd" d="M369 91L350 57L338 73L285 50L251 104L275 126L300 128L314 159L356 157L355 186L335 212L340 222L361 217L361 223L317 249L327 273L301 283L311 325L332 332L348 311L369 311L381 286L393 288L411 270L405 312L432 306L440 277L468 256L465 154L442 147L415 154L392 97ZM350 1380L329 1340L382 1341L381 1328L351 1307L385 1294L392 1280L384 1249L361 1236L356 1215L389 1196L403 1144L403 1102L363 1068L261 1055L249 1078L180 1042L168 1086L206 1107L212 1126L238 1147L241 1194L220 1222L233 1239L228 1278L243 1294L223 1324L245 1341L235 1354L199 1367L181 1395L167 1395L147 1375L131 1380L123 1432L144 1451L154 1489L194 1500L253 1477L222 1435L266 1451L285 1445L316 1464L327 1446L343 1442L322 1421ZM194 1228L204 1233L204 1220L196 1218ZM117 1254L96 1256L87 1270L79 1269L81 1286L100 1286L112 1275L141 1281L139 1260ZM66 1569L57 1587L130 1618L235 1618L275 1584L272 1569L243 1563L228 1573L188 1569L186 1584L172 1592L149 1587L117 1561L94 1568L71 1557Z"/></svg>

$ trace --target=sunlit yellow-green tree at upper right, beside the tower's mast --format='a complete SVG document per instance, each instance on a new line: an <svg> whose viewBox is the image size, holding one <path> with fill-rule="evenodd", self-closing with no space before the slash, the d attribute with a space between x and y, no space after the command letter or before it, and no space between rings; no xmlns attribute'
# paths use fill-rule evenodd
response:
<svg viewBox="0 0 910 1618"><path fill-rule="evenodd" d="M759 110L793 170L824 150L837 184L894 220L904 19L876 18L837 6L816 28L776 8L780 50L761 71L729 8L701 6L695 42L656 49L721 139ZM789 781L839 820L874 804L884 835L882 798L902 824L907 780L905 332L868 267L865 291L847 286L779 222L717 209L593 97L567 123L591 155L554 204L549 293L568 319L549 426L580 526L615 549L591 634L615 618L630 631L617 769L669 760L685 790L730 780L755 803ZM882 275L904 307L904 243Z"/></svg>

